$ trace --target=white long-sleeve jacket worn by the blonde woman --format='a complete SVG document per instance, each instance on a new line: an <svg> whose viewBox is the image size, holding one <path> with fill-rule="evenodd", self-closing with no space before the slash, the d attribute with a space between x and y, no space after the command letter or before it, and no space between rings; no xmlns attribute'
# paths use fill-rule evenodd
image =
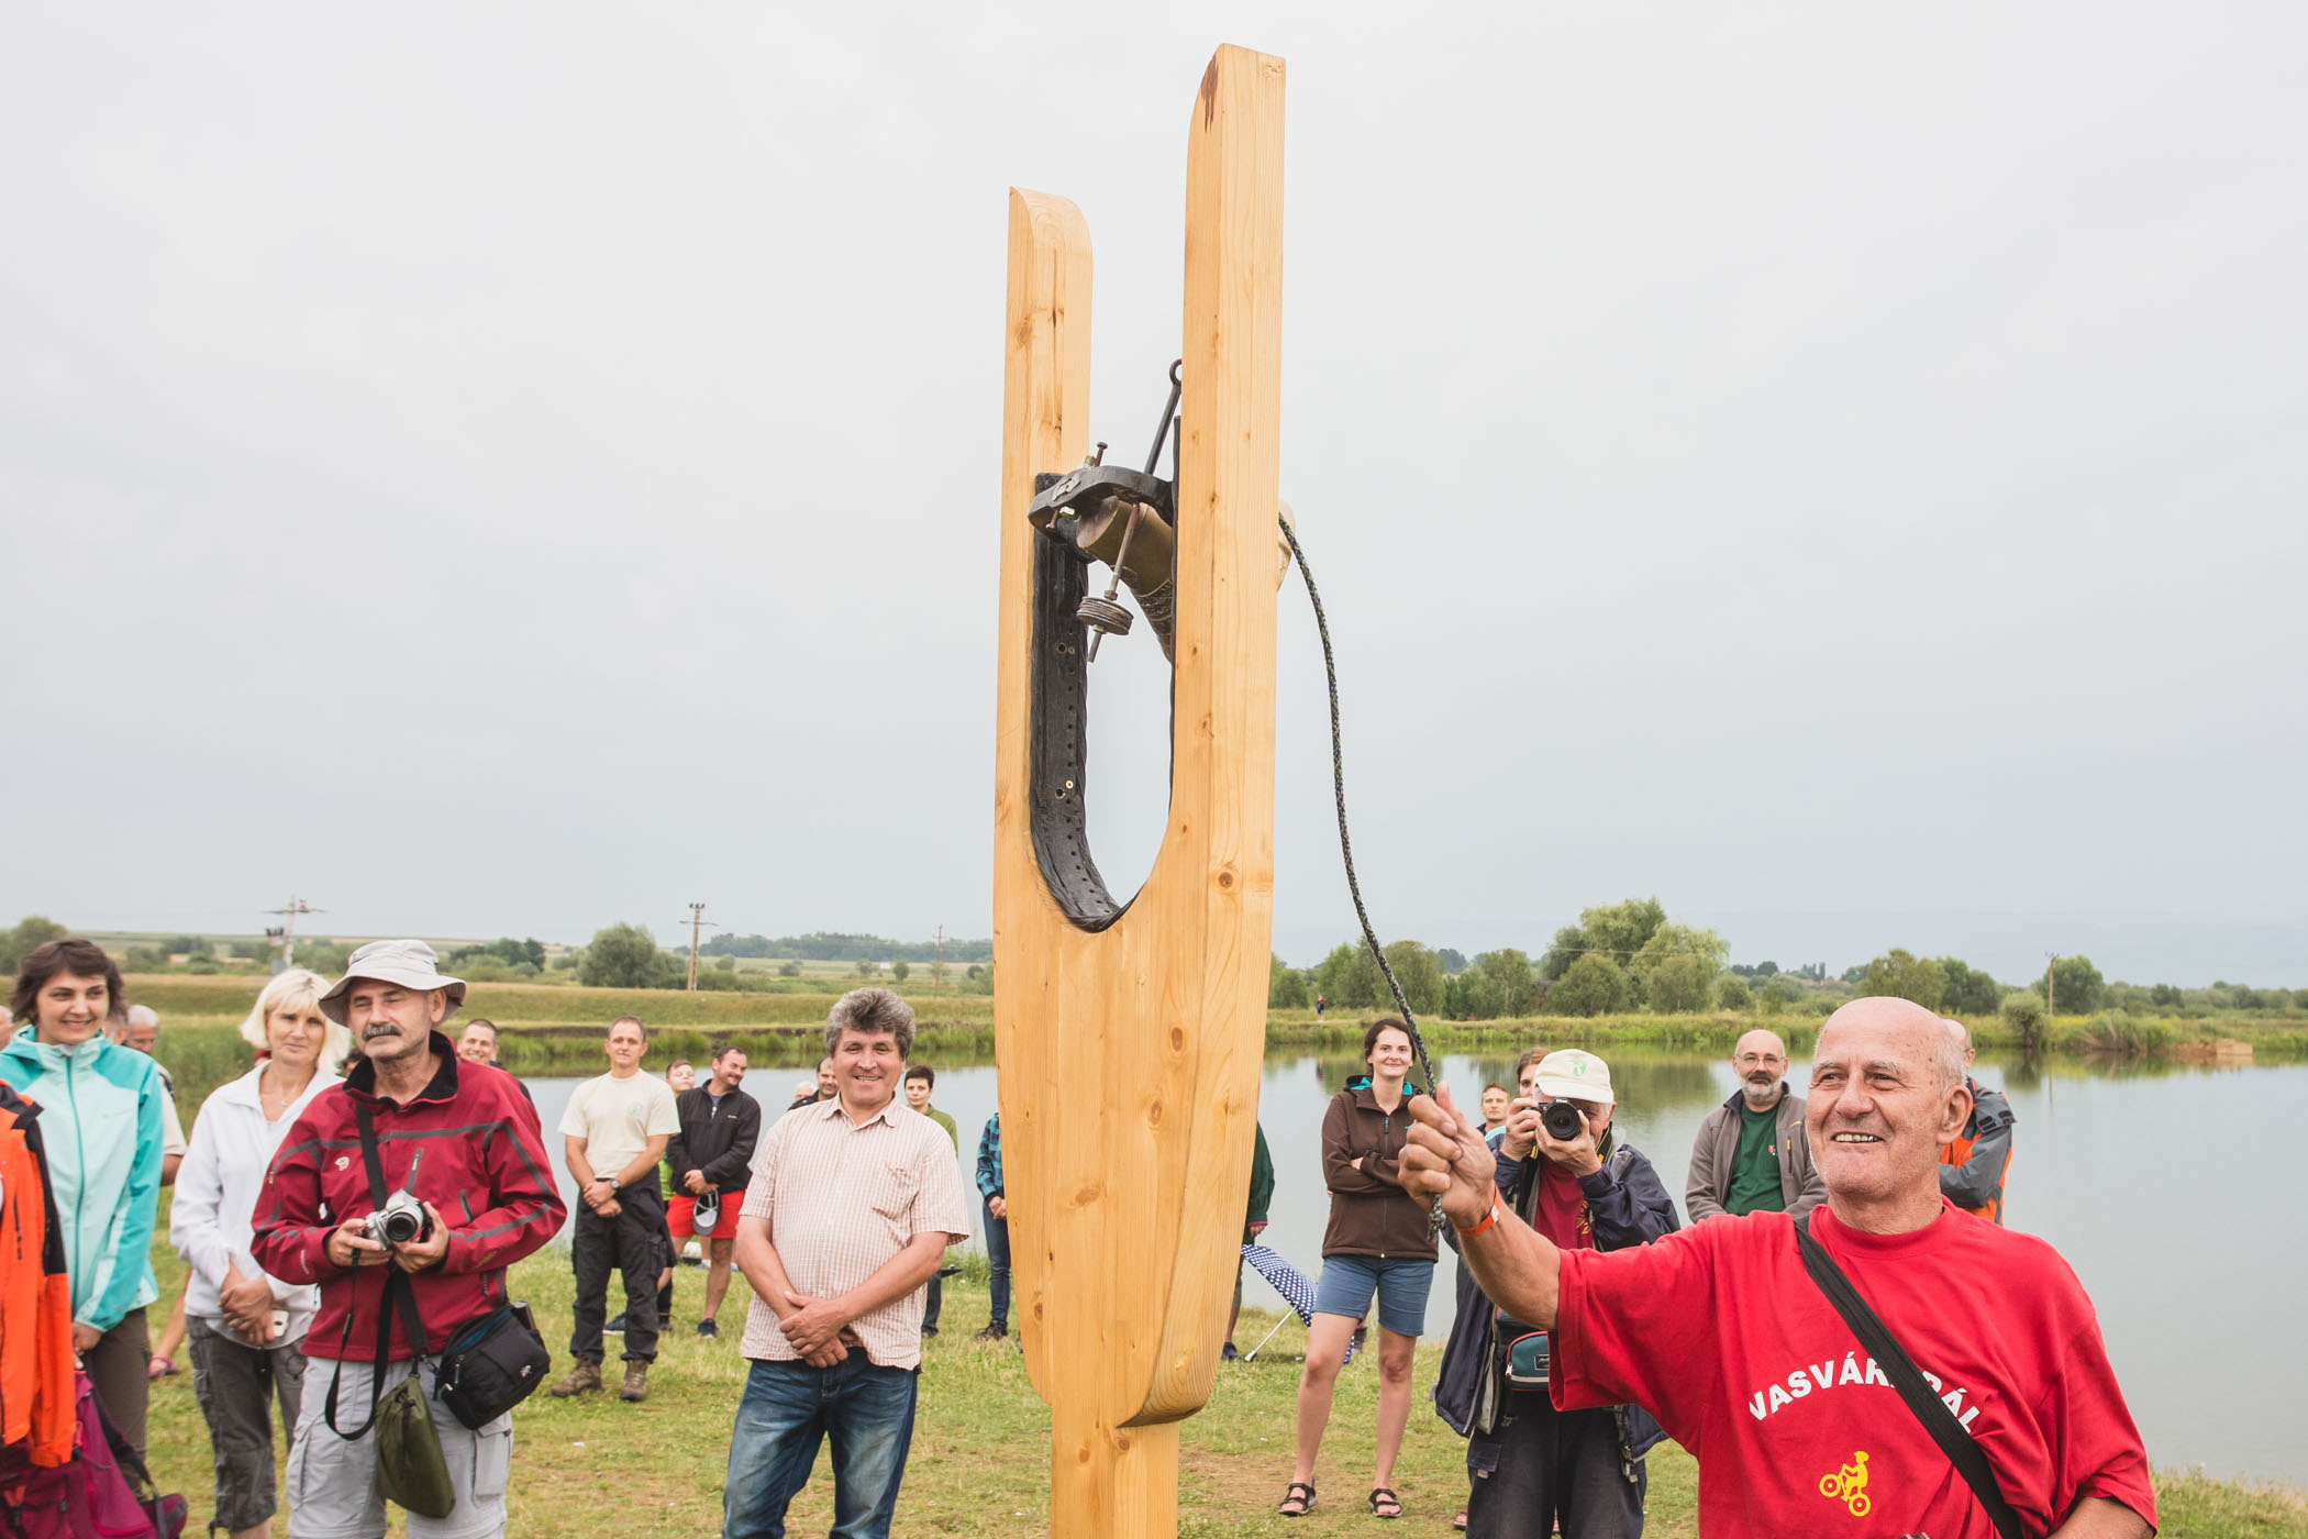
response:
<svg viewBox="0 0 2308 1539"><path fill-rule="evenodd" d="M337 1075L316 1073L305 1094L298 1096L279 1121L265 1121L263 1098L256 1089L263 1064L249 1073L219 1084L201 1114L192 1124L192 1147L185 1165L175 1172L175 1207L168 1211L168 1244L192 1267L192 1290L185 1294L185 1313L208 1322L224 1320L217 1290L228 1271L258 1276L256 1258L249 1255L249 1234L256 1214L256 1198L265 1188L265 1170L282 1147L288 1128L305 1114L305 1108L330 1084L342 1084ZM272 1345L305 1338L312 1313L321 1304L319 1287L298 1287L265 1274L272 1285L272 1306L288 1313L288 1329Z"/></svg>

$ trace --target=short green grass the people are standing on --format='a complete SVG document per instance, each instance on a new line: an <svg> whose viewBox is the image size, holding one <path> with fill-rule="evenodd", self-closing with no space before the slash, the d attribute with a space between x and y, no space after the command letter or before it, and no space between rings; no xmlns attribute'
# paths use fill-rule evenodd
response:
<svg viewBox="0 0 2308 1539"><path fill-rule="evenodd" d="M166 1211L162 1214L166 1232ZM185 1267L157 1244L155 1269L166 1299ZM515 1267L515 1297L529 1299L554 1352L556 1375L568 1366L572 1283L568 1258L545 1251ZM748 1299L743 1278L722 1308L722 1336L695 1336L704 1271L683 1267L676 1281L676 1329L667 1334L651 1394L642 1405L614 1396L554 1401L531 1396L515 1412L510 1532L522 1539L591 1539L602 1532L715 1534L720 1486L729 1454L729 1419L745 1377L736 1341ZM1265 1292L1251 1283L1251 1294ZM614 1285L612 1285L614 1294ZM1272 1294L1267 1294L1272 1301ZM159 1306L155 1306L155 1336ZM1018 1539L1048 1534L1050 1414L1034 1396L1016 1338L979 1343L986 1324L983 1260L946 1283L944 1334L926 1343L921 1407L898 1534L983 1534ZM1249 1350L1274 1324L1272 1313L1244 1311L1235 1341ZM609 1338L616 1341L614 1336ZM1186 1421L1179 1454L1179 1534L1235 1539L1292 1534L1366 1534L1371 1421L1378 1373L1357 1359L1339 1377L1332 1435L1316 1465L1320 1504L1299 1521L1274 1516L1290 1479L1290 1428L1297 1403L1297 1357L1306 1334L1292 1317L1258 1361L1221 1364L1219 1384L1202 1414ZM612 1354L616 1347L609 1347ZM1424 1394L1433 1384L1440 1343L1419 1347L1410 1433L1394 1488L1406 1504L1403 1534L1449 1534L1449 1518L1466 1500L1466 1444L1452 1435ZM187 1361L180 1357L180 1361ZM307 1394L325 1394L328 1366L316 1364ZM277 1437L277 1442L284 1442ZM192 1396L189 1368L152 1387L152 1472L192 1502L196 1532L210 1516L208 1428ZM831 1479L817 1477L789 1514L796 1534L831 1523ZM1696 1465L1673 1444L1650 1456L1653 1539L1696 1534ZM2296 1491L2220 1484L2188 1474L2158 1477L2163 1532L2174 1539L2308 1537L2308 1500ZM286 1532L275 1518L275 1534ZM395 1532L399 1523L395 1521Z"/></svg>

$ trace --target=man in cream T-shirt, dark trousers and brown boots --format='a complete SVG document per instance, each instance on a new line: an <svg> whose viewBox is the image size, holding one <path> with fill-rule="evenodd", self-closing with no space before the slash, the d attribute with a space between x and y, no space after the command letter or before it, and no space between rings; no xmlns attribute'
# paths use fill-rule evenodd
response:
<svg viewBox="0 0 2308 1539"><path fill-rule="evenodd" d="M570 1267L577 1271L577 1327L570 1331L570 1375L556 1396L600 1389L600 1336L609 1271L625 1276L625 1401L649 1394L649 1364L658 1357L658 1274L665 1195L658 1161L665 1140L681 1131L674 1091L642 1073L649 1034L632 1015L609 1022L609 1073L570 1091L561 1140L577 1179L577 1221L570 1228Z"/></svg>

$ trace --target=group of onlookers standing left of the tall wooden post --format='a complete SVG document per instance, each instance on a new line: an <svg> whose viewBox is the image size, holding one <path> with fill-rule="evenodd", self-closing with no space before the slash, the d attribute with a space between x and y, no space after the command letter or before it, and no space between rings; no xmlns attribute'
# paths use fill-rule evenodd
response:
<svg viewBox="0 0 2308 1539"><path fill-rule="evenodd" d="M642 1068L646 1027L623 1015L602 1043L607 1073L570 1091L549 1144L529 1087L496 1059L494 1022L445 1034L464 994L422 941L362 946L335 983L275 974L240 1027L252 1068L208 1096L187 1140L152 1057L159 1020L125 1001L113 960L76 939L25 958L0 1078L44 1119L72 1347L127 1442L143 1454L150 1382L178 1373L185 1350L215 1449L212 1527L270 1532L286 1495L291 1534L381 1534L385 1497L406 1504L395 1465L406 1440L385 1440L379 1414L390 1419L415 1377L445 1488L441 1514L409 1507L409 1532L503 1532L510 1414L459 1421L441 1375L464 1334L512 1306L508 1269L568 1230L572 1361L552 1394L605 1389L614 1336L616 1391L646 1398L674 1269L692 1248L706 1269L697 1336L720 1336L734 1274L752 1290L725 1530L778 1532L831 1437L845 1532L886 1532L921 1341L937 1334L953 1271L944 1253L972 1232L960 1135L930 1101L935 1068L907 1061L905 1001L842 997L817 1078L769 1131L741 1089L743 1048L720 1045L704 1075L674 1064L658 1078ZM999 1114L974 1177L995 1258L979 1336L999 1341ZM168 1244L187 1278L152 1341L150 1244L171 1181ZM376 1223L395 1202L404 1232ZM288 1428L284 1479L275 1412Z"/></svg>

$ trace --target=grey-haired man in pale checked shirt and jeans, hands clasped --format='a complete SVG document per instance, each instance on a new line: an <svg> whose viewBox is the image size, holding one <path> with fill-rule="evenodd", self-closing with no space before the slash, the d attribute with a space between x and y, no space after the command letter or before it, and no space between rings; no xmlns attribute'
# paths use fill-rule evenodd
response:
<svg viewBox="0 0 2308 1539"><path fill-rule="evenodd" d="M838 1094L762 1135L736 1225L752 1359L729 1433L725 1539L778 1539L833 1440L833 1532L886 1539L914 1440L926 1283L969 1209L946 1131L905 1105L914 1011L886 988L826 1015Z"/></svg>

